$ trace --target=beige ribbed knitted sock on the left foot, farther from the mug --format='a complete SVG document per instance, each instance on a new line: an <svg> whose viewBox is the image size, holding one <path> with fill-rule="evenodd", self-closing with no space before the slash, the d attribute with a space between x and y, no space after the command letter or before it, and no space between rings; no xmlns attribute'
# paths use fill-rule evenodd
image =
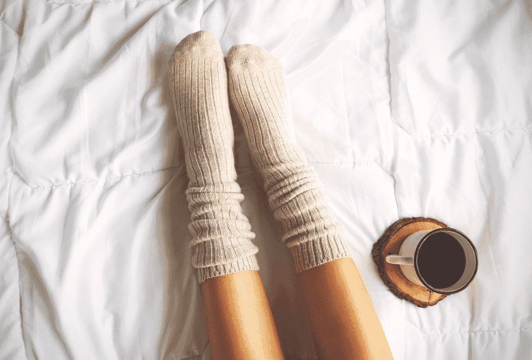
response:
<svg viewBox="0 0 532 360"><path fill-rule="evenodd" d="M195 249L192 264L200 283L246 270L259 270L251 241L255 234L242 214L244 195L236 182L234 135L229 114L227 68L218 40L209 31L188 35L170 58L170 83L185 149L186 190Z"/></svg>

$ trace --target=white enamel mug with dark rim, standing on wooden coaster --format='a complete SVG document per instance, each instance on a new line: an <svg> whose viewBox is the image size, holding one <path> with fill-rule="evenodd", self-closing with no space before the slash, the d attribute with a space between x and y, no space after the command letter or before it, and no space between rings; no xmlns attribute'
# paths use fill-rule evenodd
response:
<svg viewBox="0 0 532 360"><path fill-rule="evenodd" d="M451 235L457 240L465 254L465 269L462 275L458 281L445 288L431 286L426 279L423 279L418 266L418 256L421 246L423 244L429 244L429 242L426 241L430 239L431 236L440 232L445 232L447 235ZM445 261L452 262L450 258L445 259ZM473 242L465 236L464 233L451 228L441 228L436 230L420 230L412 233L401 245L399 255L386 256L386 262L401 265L401 271L405 277L413 283L424 286L430 291L437 292L438 294L450 295L467 288L471 281L473 281L478 269L478 254L475 245L473 245ZM454 264L451 263L447 264L447 266L453 265ZM445 269L442 269L442 271L445 271Z"/></svg>

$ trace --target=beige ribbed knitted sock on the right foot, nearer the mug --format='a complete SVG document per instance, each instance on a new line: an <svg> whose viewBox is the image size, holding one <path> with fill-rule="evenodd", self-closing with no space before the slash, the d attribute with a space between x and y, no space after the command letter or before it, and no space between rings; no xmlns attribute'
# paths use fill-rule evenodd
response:
<svg viewBox="0 0 532 360"><path fill-rule="evenodd" d="M236 45L226 63L231 102L296 271L351 256L342 225L334 220L317 174L295 141L280 62L259 46Z"/></svg>

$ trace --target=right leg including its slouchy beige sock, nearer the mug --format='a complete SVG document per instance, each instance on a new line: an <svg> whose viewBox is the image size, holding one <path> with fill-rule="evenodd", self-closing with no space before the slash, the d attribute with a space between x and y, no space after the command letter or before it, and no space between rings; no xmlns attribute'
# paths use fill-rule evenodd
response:
<svg viewBox="0 0 532 360"><path fill-rule="evenodd" d="M254 45L227 54L229 93L282 223L320 359L392 359L386 336L317 174L296 144L280 62Z"/></svg>

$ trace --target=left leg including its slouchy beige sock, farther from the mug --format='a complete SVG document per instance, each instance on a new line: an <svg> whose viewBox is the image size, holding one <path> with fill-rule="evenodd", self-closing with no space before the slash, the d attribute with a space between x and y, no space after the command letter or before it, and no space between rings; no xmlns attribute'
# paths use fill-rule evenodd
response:
<svg viewBox="0 0 532 360"><path fill-rule="evenodd" d="M283 360L259 276L258 248L236 182L227 70L208 31L187 36L170 60L176 117L185 149L186 191L214 360Z"/></svg>

